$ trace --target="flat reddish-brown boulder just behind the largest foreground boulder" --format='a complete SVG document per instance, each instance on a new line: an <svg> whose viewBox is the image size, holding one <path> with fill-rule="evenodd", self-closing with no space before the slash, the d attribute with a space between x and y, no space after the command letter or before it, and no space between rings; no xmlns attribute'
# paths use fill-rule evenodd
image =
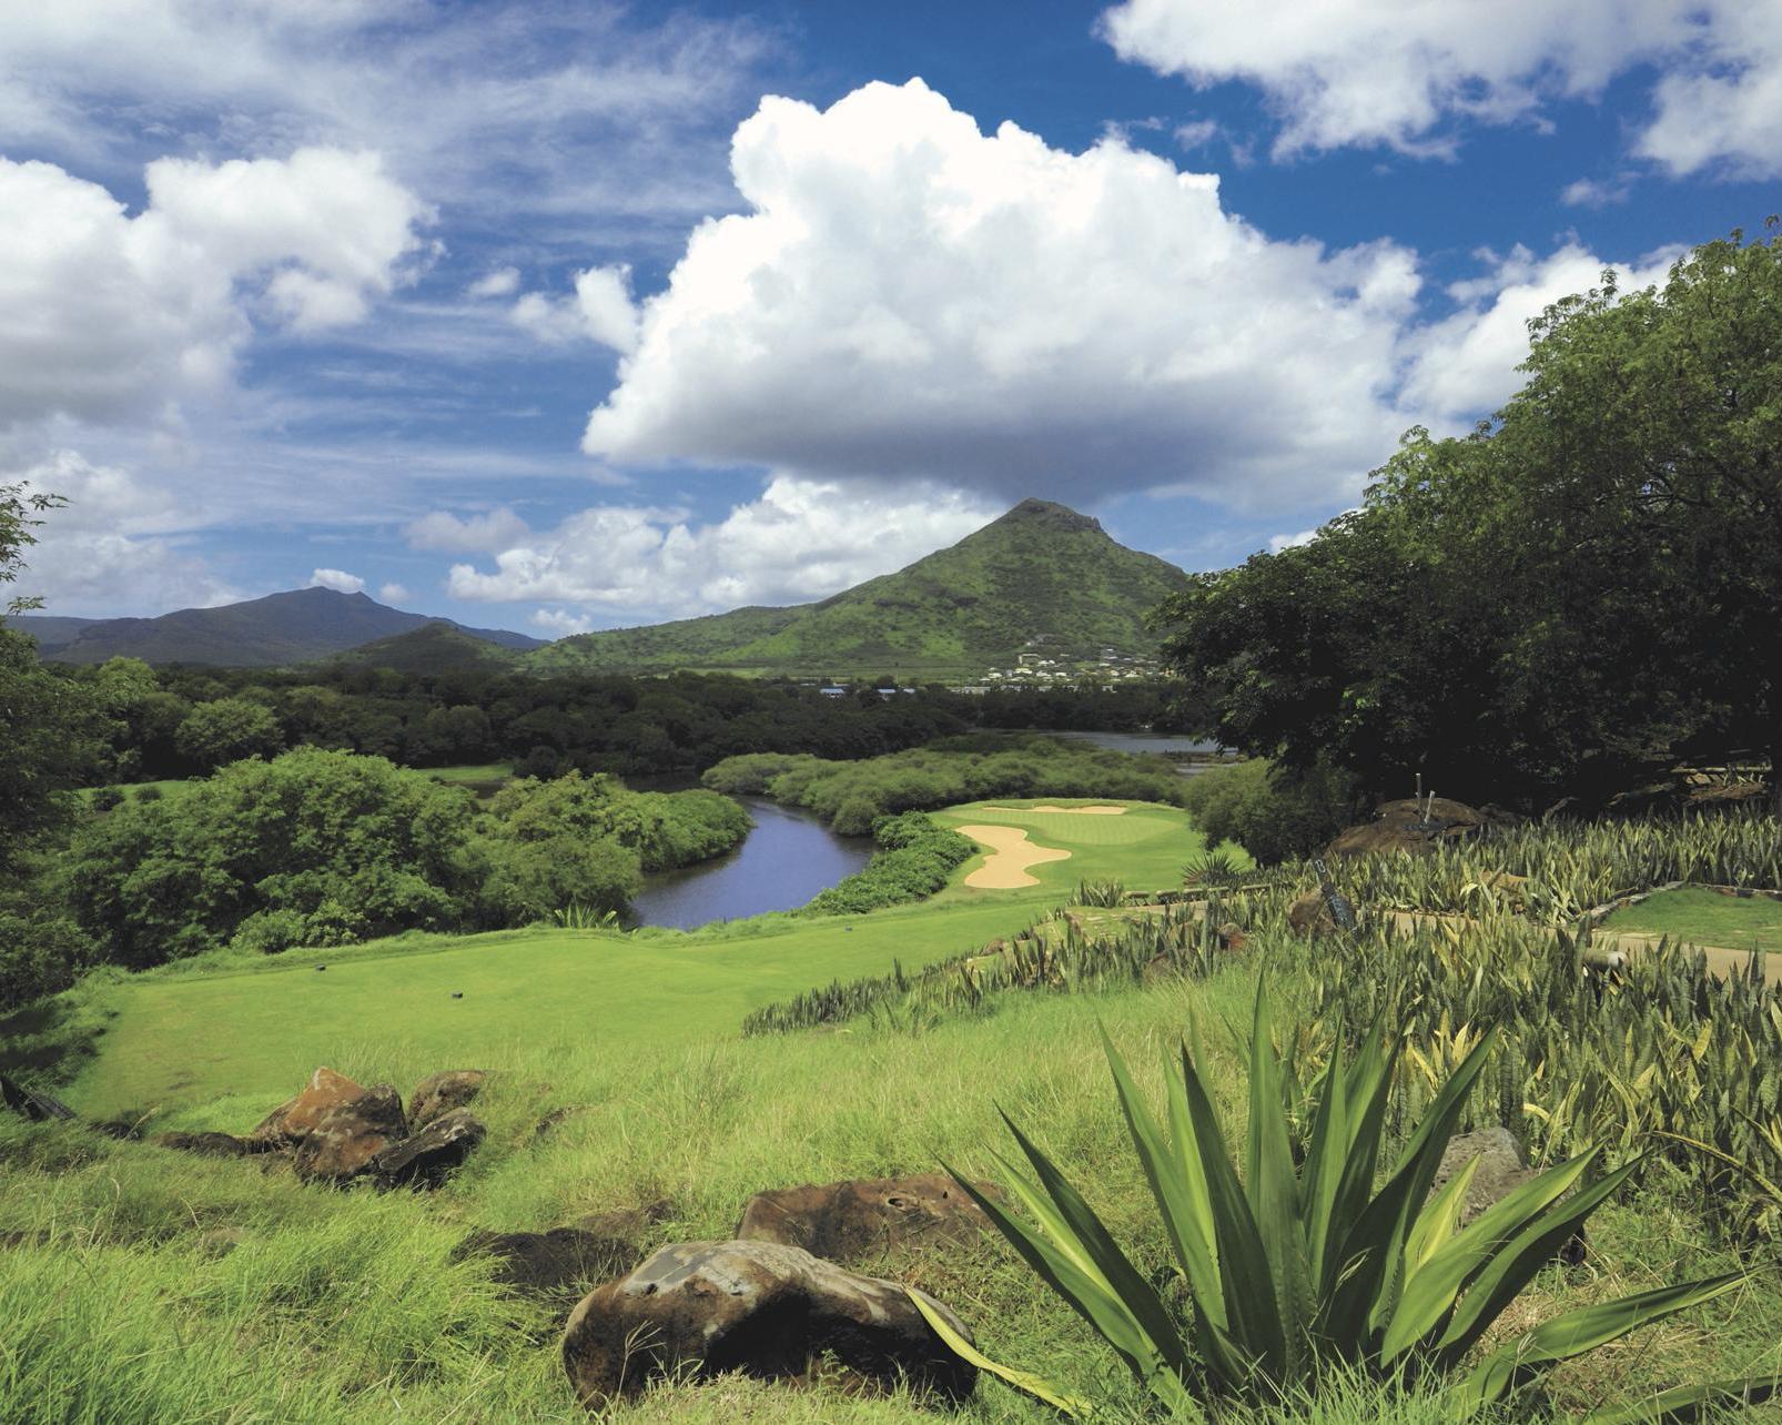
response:
<svg viewBox="0 0 1782 1425"><path fill-rule="evenodd" d="M852 1261L930 1242L977 1242L984 1226L978 1204L952 1177L920 1172L757 1192L743 1208L736 1236Z"/></svg>

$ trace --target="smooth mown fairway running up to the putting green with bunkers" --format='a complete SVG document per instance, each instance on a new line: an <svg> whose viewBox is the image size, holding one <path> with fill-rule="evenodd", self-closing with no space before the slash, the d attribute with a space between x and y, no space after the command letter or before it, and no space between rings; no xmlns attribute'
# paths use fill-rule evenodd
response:
<svg viewBox="0 0 1782 1425"><path fill-rule="evenodd" d="M1181 810L1146 803L1126 816L959 807L943 819L1032 825L1037 841L1073 855L1037 867L1041 884L1021 891L960 885L975 859L941 896L868 916L768 916L691 933L412 935L173 965L86 990L110 1021L68 1097L98 1117L210 1104L205 1126L226 1128L221 1119L253 1122L255 1104L264 1113L317 1063L365 1044L494 1063L522 1038L620 1047L722 1037L750 1010L811 985L884 974L895 960L914 969L1010 935L1066 900L1078 878L1169 884L1199 846Z"/></svg>

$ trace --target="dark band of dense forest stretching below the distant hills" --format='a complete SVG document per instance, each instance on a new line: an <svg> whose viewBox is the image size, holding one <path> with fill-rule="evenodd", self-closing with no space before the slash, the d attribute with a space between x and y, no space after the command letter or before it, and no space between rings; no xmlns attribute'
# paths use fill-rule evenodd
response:
<svg viewBox="0 0 1782 1425"><path fill-rule="evenodd" d="M1130 730L1167 725L1160 686L959 695L875 688L823 695L809 684L731 675L394 672L339 663L294 672L150 668L116 657L45 666L62 695L100 718L89 782L203 775L242 757L321 746L413 768L513 762L519 771L690 778L745 752L875 757L987 729Z"/></svg>

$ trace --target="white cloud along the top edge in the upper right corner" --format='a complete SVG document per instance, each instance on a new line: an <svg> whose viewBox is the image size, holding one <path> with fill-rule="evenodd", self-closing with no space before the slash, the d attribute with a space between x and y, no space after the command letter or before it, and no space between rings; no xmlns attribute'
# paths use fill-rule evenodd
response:
<svg viewBox="0 0 1782 1425"><path fill-rule="evenodd" d="M1638 153L1675 173L1782 171L1782 0L1123 0L1099 30L1198 87L1260 87L1281 155L1447 151L1454 121L1540 123L1554 98L1652 66Z"/></svg>

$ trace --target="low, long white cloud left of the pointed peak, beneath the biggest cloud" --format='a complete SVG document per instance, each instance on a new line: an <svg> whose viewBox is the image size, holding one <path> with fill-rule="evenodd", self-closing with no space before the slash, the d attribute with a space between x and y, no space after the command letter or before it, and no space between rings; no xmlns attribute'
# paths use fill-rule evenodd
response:
<svg viewBox="0 0 1782 1425"><path fill-rule="evenodd" d="M601 506L495 554L453 565L454 598L583 606L542 627L579 632L588 611L690 616L743 604L820 598L950 545L1001 513L952 490L871 492L779 476L727 518Z"/></svg>

